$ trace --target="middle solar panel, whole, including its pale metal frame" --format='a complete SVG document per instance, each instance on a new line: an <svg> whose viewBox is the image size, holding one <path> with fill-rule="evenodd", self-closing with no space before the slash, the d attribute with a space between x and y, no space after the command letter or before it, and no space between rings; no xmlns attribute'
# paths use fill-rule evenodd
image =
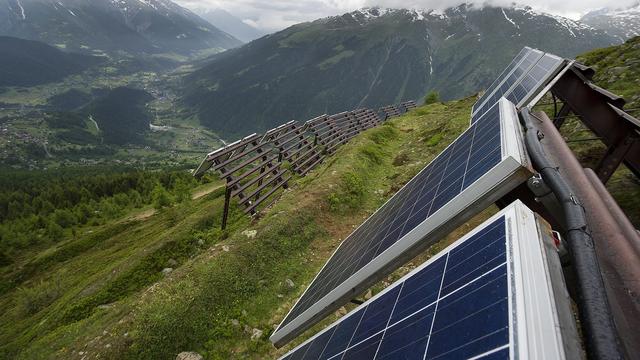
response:
<svg viewBox="0 0 640 360"><path fill-rule="evenodd" d="M515 107L501 100L349 235L271 336L282 345L528 176Z"/></svg>

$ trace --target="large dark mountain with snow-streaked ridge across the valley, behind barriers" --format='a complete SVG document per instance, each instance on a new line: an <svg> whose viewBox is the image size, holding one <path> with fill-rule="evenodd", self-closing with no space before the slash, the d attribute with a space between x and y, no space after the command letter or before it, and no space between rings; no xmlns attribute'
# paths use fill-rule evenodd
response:
<svg viewBox="0 0 640 360"><path fill-rule="evenodd" d="M486 87L524 45L575 56L618 40L525 8L461 5L438 13L367 8L294 25L214 55L183 102L228 137L354 107L443 99Z"/></svg>

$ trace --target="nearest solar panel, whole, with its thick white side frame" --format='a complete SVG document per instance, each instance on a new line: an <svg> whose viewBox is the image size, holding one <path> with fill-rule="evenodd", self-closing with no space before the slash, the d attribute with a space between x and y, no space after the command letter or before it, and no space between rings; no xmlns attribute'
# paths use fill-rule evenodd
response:
<svg viewBox="0 0 640 360"><path fill-rule="evenodd" d="M516 201L283 359L579 356L558 255L538 225Z"/></svg>

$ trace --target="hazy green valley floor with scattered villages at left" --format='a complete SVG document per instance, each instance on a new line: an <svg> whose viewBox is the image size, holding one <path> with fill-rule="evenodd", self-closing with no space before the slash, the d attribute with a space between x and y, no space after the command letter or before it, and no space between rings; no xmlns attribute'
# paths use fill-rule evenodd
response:
<svg viewBox="0 0 640 360"><path fill-rule="evenodd" d="M128 63L110 59L56 82L0 89L0 166L172 167L221 144L176 105L178 75L122 71L116 68L122 62ZM104 100L122 88L132 96Z"/></svg>

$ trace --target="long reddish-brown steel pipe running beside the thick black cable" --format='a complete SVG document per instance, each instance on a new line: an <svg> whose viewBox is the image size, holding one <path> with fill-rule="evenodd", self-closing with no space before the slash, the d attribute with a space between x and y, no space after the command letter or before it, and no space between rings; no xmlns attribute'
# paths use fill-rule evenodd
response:
<svg viewBox="0 0 640 360"><path fill-rule="evenodd" d="M627 354L640 354L640 238L613 199L603 199L543 112L535 113L547 156L584 205L616 327ZM606 190L604 190L606 192ZM618 210L611 211L609 209ZM615 216L614 216L615 214ZM634 236L635 234L635 236Z"/></svg>

